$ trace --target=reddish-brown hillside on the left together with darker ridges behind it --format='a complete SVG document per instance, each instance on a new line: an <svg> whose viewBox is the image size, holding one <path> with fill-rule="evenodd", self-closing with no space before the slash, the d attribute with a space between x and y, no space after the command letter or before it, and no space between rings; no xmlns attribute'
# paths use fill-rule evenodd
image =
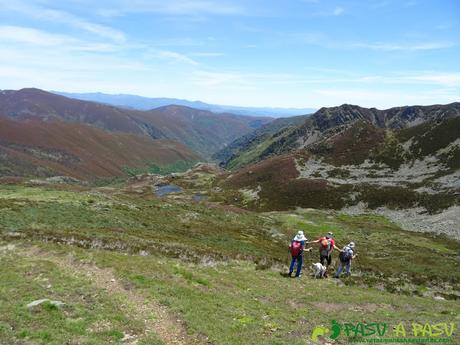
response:
<svg viewBox="0 0 460 345"><path fill-rule="evenodd" d="M272 120L182 106L139 111L39 89L0 92L0 174L122 175L196 162Z"/></svg>

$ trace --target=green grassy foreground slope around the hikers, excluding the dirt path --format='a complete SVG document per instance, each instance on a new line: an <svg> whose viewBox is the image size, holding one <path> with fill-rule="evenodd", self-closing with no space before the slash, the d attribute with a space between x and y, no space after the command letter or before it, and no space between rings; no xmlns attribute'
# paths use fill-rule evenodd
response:
<svg viewBox="0 0 460 345"><path fill-rule="evenodd" d="M305 344L314 326L333 318L459 320L458 302L416 295L458 296L460 244L404 232L378 217L313 210L256 214L191 203L187 195L156 199L147 192L0 186L0 227L4 244L37 245L58 257L73 252L113 269L131 289L180 315L189 332L205 334L215 344ZM348 286L307 276L289 280L273 268L285 270L285 248L299 228L311 238L332 230L340 245L357 242L360 257L355 276L344 280ZM73 246L56 244L62 242ZM150 255L137 255L140 250ZM121 343L128 328L142 332L139 320L90 282L17 253L0 253L7 264L0 269L0 338L8 344L21 338L32 344ZM316 256L311 253L306 261L316 262ZM44 278L52 281L51 294ZM86 301L81 295L98 297ZM37 314L25 309L45 296L65 300L69 309L44 308ZM112 325L107 333L89 331L106 319Z"/></svg>

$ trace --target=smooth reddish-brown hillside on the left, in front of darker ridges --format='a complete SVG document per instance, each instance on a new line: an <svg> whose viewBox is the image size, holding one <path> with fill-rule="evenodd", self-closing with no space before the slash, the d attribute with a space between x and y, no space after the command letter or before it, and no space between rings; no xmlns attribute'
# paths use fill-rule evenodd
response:
<svg viewBox="0 0 460 345"><path fill-rule="evenodd" d="M120 176L125 167L198 159L190 149L171 140L113 133L84 124L18 122L0 117L0 176ZM37 173L40 169L41 174Z"/></svg>

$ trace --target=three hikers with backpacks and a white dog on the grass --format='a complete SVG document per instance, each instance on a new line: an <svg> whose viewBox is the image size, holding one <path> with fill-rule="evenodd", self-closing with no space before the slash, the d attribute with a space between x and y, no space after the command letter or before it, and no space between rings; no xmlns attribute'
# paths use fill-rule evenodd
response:
<svg viewBox="0 0 460 345"><path fill-rule="evenodd" d="M313 248L310 247L306 249L306 245L313 243L317 243L319 245L319 263L313 265L316 270L315 275L317 277L328 277L327 271L332 263L332 252L334 249L340 253L339 266L334 277L339 278L344 268L345 274L347 276L351 275L351 261L358 255L355 254L354 242L350 242L340 249L335 244L334 234L332 232L328 232L327 235L321 236L315 241L308 242L303 231L299 231L289 245L289 250L292 256L291 265L289 266L289 277L292 277L294 267L297 264L295 277L300 278L303 264L303 253L311 251Z"/></svg>

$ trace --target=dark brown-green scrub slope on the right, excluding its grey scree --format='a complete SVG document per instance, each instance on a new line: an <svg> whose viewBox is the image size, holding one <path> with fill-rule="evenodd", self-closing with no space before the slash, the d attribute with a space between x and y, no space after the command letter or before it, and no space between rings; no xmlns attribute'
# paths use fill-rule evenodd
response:
<svg viewBox="0 0 460 345"><path fill-rule="evenodd" d="M430 187L434 179L452 174L459 169L460 148L453 145L460 136L459 128L460 117L399 131L385 131L366 122L356 122L341 133L319 141L306 150L274 155L239 169L223 181L223 184L226 188L234 190L255 190L260 186L260 199L247 203L247 206L257 210L286 210L295 207L341 209L362 201L371 209L382 206L391 209L421 206L430 213L436 213L459 204L459 193L455 186L435 194L420 192L417 189L422 186ZM403 144L408 140L413 144L405 151ZM441 149L444 149L444 153L439 153ZM257 157L260 158L259 154L260 151L255 149L242 151L229 164L231 167L232 164L244 166L249 161L257 161ZM424 160L430 156L436 156L439 160L437 173L419 183L411 183L410 179L407 179L408 187L366 183L333 186L325 179L298 179L299 174L294 163L296 158L304 162L308 161L308 157L322 159L337 167L336 176L329 174L329 177L342 174L346 178L349 165L359 165L366 159L384 163L397 170L403 163L411 164L417 159ZM380 168L377 166L377 169ZM367 170L370 177L374 168ZM358 197L350 200L352 194Z"/></svg>

